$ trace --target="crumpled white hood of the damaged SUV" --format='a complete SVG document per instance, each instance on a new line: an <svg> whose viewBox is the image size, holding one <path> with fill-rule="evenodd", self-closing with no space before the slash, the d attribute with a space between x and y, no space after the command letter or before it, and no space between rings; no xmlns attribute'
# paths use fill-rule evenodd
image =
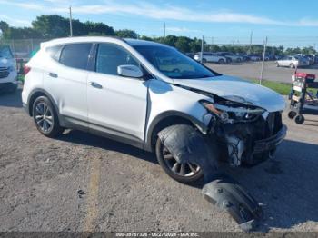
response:
<svg viewBox="0 0 318 238"><path fill-rule="evenodd" d="M268 112L283 111L283 96L259 84L233 76L221 75L203 79L174 79L174 84L216 94L228 100L259 106Z"/></svg>

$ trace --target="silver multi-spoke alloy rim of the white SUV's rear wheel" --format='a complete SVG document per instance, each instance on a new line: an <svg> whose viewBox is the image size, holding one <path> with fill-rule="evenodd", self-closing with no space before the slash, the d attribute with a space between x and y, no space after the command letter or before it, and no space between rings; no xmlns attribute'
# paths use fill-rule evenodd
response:
<svg viewBox="0 0 318 238"><path fill-rule="evenodd" d="M41 131L47 133L52 129L54 124L53 113L50 107L41 102L35 106L35 122Z"/></svg>

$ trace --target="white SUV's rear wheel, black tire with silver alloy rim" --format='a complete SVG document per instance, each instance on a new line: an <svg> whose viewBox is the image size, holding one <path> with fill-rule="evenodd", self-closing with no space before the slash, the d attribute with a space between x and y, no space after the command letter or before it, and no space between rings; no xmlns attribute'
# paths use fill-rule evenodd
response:
<svg viewBox="0 0 318 238"><path fill-rule="evenodd" d="M36 98L32 110L36 129L41 134L53 138L63 133L55 107L46 96Z"/></svg>

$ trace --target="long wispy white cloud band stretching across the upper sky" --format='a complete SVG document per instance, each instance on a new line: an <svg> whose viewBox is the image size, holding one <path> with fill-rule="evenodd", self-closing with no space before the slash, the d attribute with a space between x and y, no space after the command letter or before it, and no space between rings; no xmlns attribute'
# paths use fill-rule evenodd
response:
<svg viewBox="0 0 318 238"><path fill-rule="evenodd" d="M71 1L45 0L42 4L35 2L11 2L0 0L0 4L15 5L25 9L38 10L42 13L67 13ZM228 10L199 11L174 5L154 5L147 2L132 4L118 4L105 1L99 5L73 5L73 12L77 15L139 15L156 20L177 20L201 23L243 23L253 25L285 25L285 26L318 26L318 19L303 18L292 21L275 20L263 15L235 13ZM174 29L175 30L175 29Z"/></svg>

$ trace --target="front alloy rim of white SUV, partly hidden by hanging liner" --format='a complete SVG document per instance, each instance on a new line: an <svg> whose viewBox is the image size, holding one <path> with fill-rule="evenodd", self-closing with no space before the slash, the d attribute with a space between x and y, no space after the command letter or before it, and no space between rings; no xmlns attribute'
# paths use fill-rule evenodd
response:
<svg viewBox="0 0 318 238"><path fill-rule="evenodd" d="M168 166L170 171L178 176L192 177L201 171L201 168L197 164L178 163L174 159L173 154L171 154L165 146L163 146L163 157L164 163Z"/></svg>

